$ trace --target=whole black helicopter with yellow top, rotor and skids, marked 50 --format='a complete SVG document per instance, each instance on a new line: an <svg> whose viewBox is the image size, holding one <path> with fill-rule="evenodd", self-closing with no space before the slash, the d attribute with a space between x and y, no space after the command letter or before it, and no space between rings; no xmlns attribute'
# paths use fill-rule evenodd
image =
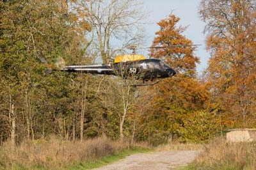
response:
<svg viewBox="0 0 256 170"><path fill-rule="evenodd" d="M187 47L195 45L172 45L167 47L147 47L147 49ZM143 55L135 54L135 47L131 47L132 54L118 55L113 63L100 65L70 65L61 66L64 72L82 72L103 75L116 75L127 79L133 77L142 80L142 84L132 84L131 86L152 86L157 84L158 79L173 77L175 70L160 59L146 59ZM145 48L146 49L146 48ZM156 81L157 79L157 81ZM152 83L145 83L152 81Z"/></svg>

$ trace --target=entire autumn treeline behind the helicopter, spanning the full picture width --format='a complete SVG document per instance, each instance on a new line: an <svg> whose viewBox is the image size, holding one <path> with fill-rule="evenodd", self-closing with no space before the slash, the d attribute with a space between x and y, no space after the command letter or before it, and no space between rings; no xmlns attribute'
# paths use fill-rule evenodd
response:
<svg viewBox="0 0 256 170"><path fill-rule="evenodd" d="M196 47L154 49L178 73L156 86L58 71L55 63L111 61L143 42L140 4L124 1L0 1L0 141L58 135L81 140L207 141L228 128L255 127L255 1L203 0L209 67L197 78ZM193 45L169 15L154 46ZM124 40L114 50L111 42Z"/></svg>

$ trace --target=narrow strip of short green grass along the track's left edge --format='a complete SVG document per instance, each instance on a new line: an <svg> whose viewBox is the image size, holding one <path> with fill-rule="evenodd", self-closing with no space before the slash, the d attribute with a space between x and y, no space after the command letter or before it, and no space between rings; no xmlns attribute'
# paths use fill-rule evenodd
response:
<svg viewBox="0 0 256 170"><path fill-rule="evenodd" d="M116 162L122 158L125 158L129 155L135 154L135 153L146 153L152 151L151 149L147 148L130 148L128 150L120 151L118 153L114 153L112 155L99 158L97 160L92 160L88 162L83 162L81 164L73 165L73 166L68 166L68 170L82 170L82 169L93 169L96 167L102 167L106 166L108 164L111 164L113 162Z"/></svg>

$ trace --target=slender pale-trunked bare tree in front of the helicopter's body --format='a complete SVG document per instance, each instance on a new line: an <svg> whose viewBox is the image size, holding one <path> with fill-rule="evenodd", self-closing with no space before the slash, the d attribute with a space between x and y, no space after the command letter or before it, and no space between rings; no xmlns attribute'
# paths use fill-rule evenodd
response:
<svg viewBox="0 0 256 170"><path fill-rule="evenodd" d="M108 79L108 84L101 90L102 102L109 109L109 112L114 112L118 116L120 141L124 141L124 125L127 118L132 113L132 108L136 102L136 87L134 84L137 79L143 75L143 72L138 72L132 65L119 63L115 67L118 77ZM137 73L136 73L137 71ZM132 125L134 126L134 125Z"/></svg>

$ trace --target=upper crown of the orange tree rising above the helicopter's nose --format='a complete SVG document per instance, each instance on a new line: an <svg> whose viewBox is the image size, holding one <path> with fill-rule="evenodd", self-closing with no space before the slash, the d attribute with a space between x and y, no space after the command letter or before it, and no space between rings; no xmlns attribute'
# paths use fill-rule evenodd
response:
<svg viewBox="0 0 256 170"><path fill-rule="evenodd" d="M158 22L160 31L156 32L152 47L172 45L184 45L184 47L152 49L150 56L163 59L178 73L195 77L196 63L199 63L199 58L193 54L195 47L186 47L186 45L193 45L193 42L182 35L186 31L186 27L177 27L179 20L179 17L169 15L166 19Z"/></svg>

